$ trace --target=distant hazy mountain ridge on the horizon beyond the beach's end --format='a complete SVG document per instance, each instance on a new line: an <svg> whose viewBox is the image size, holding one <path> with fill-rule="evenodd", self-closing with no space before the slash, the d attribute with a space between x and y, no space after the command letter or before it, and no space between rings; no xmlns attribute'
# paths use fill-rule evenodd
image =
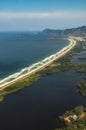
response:
<svg viewBox="0 0 86 130"><path fill-rule="evenodd" d="M64 29L64 30L53 30L45 29L43 30L44 34L53 35L53 36L84 36L86 37L86 26Z"/></svg>

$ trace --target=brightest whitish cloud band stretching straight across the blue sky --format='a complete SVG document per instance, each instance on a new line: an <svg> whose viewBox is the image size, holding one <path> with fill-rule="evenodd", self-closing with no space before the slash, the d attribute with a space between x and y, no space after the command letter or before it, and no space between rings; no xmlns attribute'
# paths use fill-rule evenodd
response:
<svg viewBox="0 0 86 130"><path fill-rule="evenodd" d="M5 13L0 12L0 19L41 19L41 18L86 18L86 12L51 12L51 13Z"/></svg>

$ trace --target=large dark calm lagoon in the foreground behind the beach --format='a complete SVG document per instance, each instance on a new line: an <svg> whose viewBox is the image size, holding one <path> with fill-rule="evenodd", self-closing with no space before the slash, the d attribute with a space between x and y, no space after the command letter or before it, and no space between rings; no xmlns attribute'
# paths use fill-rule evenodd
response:
<svg viewBox="0 0 86 130"><path fill-rule="evenodd" d="M0 104L0 127L16 130L60 127L58 117L66 110L86 106L86 98L76 88L83 76L73 71L46 76L32 86L7 95Z"/></svg>

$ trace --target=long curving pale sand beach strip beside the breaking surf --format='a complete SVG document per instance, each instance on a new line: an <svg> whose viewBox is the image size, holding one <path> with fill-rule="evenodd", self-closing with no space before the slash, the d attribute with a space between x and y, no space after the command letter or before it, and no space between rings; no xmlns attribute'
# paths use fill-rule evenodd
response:
<svg viewBox="0 0 86 130"><path fill-rule="evenodd" d="M50 65L53 61L63 57L70 50L72 50L76 45L76 41L77 41L76 38L70 37L68 40L70 41L70 44L68 46L64 47L63 49L61 49L59 52L55 53L52 57L50 56L49 57L50 59L47 59L45 61L45 63L43 63L42 65L38 66L37 68L31 70L30 72L27 72L26 74L20 75L19 77L15 78L15 79L13 79L11 81L7 81L5 83L2 83L0 85L0 90L3 90L5 88L7 88L7 87L10 87L11 85L18 82L19 80L24 80L25 78L35 74L36 72L38 72L38 71L40 71L42 69L44 69L46 66Z"/></svg>

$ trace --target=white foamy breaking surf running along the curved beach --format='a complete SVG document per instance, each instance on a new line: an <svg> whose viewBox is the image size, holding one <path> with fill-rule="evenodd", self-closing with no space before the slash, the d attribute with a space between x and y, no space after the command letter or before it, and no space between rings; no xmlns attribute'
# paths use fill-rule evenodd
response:
<svg viewBox="0 0 86 130"><path fill-rule="evenodd" d="M23 69L21 69L19 72L16 72L14 74L11 74L9 75L8 77L4 78L4 79L1 79L0 80L0 84L3 84L5 82L9 82L9 81L12 81L13 79L21 76L21 75L24 75L24 74L27 74L28 72L31 72L32 70L35 70L37 67L39 67L40 65L43 65L44 63L47 63L48 61L50 60L53 60L56 56L58 56L59 54L61 54L63 51L65 51L66 49L68 49L70 46L72 45L72 42L70 41L70 44L66 47L64 47L63 49L61 49L60 51L56 52L55 54L52 54L46 58L44 58L43 60L40 60L39 62L37 63L34 63L28 67L25 67Z"/></svg>

